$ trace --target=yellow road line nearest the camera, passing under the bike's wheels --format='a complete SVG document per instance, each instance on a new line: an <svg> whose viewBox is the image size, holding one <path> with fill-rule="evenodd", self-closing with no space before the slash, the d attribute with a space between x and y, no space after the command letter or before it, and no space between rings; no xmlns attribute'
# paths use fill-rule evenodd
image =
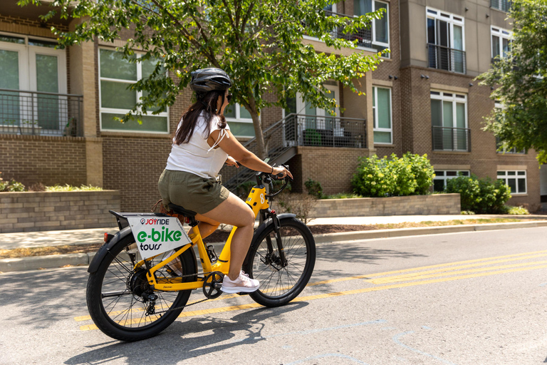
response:
<svg viewBox="0 0 547 365"><path fill-rule="evenodd" d="M527 271L527 270L533 270L533 269L545 269L547 268L547 265L538 265L534 267L521 267L519 269L505 269L505 270L498 270L495 272L481 272L478 274L468 274L468 275L460 275L457 277L445 277L442 279L431 279L431 280L423 280L421 282L405 282L401 284L391 284L391 285L383 285L380 287L368 287L363 289L354 289L354 290L347 290L345 292L334 292L334 293L325 293L325 294L317 294L317 295L311 295L308 297L296 297L296 299L293 299L293 302L307 302L310 300L315 299L325 299L330 297L340 297L343 295L352 295L352 294L362 294L367 292L378 292L380 290L387 290L387 289L395 289L395 288L401 288L401 287L414 287L417 285L424 285L424 284L432 284L437 282L452 282L454 280L461 280L461 279L470 279L473 277L486 277L490 275L497 275L497 274L505 274L508 272L521 272L521 271ZM261 307L258 303L251 303L251 304L242 304L242 305L235 305L231 307L221 307L221 308L213 308L213 309L203 309L199 311L193 311L193 312L182 312L179 317L193 317L193 316L199 316L203 314L214 314L214 313L220 313L220 312L230 312L235 310L241 310L241 309L251 309L251 308L258 308ZM90 329L97 329L97 327L94 324L88 324L85 326L80 326L80 329L83 331L90 330Z"/></svg>

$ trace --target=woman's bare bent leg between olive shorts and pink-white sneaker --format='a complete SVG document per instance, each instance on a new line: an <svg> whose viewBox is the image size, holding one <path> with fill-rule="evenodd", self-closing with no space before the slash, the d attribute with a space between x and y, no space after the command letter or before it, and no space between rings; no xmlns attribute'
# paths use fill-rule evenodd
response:
<svg viewBox="0 0 547 365"><path fill-rule="evenodd" d="M212 225L212 222L222 222L237 227L234 237L231 239L230 269L228 272L230 279L237 279L253 238L255 218L253 210L243 200L230 192L228 199L201 216L209 218L207 220L209 225ZM207 229L207 227L204 228ZM201 232L201 227L199 227L199 230Z"/></svg>

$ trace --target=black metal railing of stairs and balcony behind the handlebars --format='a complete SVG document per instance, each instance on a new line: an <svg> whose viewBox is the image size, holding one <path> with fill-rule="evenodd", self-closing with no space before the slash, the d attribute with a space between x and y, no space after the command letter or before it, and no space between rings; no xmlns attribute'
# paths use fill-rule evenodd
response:
<svg viewBox="0 0 547 365"><path fill-rule="evenodd" d="M365 119L289 114L266 128L264 144L269 163L286 163L296 153L297 146L367 148ZM258 153L256 138L244 147ZM224 166L220 170L223 185L239 195L239 187L250 181L254 171L248 168ZM244 190L244 189L243 189Z"/></svg>

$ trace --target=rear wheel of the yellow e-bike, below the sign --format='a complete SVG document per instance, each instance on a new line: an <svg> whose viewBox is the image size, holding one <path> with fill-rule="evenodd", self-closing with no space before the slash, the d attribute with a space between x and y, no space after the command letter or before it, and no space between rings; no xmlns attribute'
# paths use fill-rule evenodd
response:
<svg viewBox="0 0 547 365"><path fill-rule="evenodd" d="M175 309L159 315L146 315L146 304L140 302L137 295L137 292L147 284L146 280L142 279L142 271L145 272L145 270L140 269L137 272L133 270L134 263L140 260L138 250L132 246L134 243L135 239L129 235L114 245L103 262L99 264L97 271L89 275L86 291L88 311L95 325L107 336L120 341L140 341L155 336L172 324L182 312L182 309ZM130 247L132 248L130 249ZM197 276L191 275L197 274L197 264L190 250L186 250L179 256L182 275L190 275L182 277L182 282L197 280ZM136 252L135 260L128 260L130 255L127 252ZM160 257L155 257L152 259L152 266L167 256L165 253ZM166 267L162 267L156 273L162 276L166 272L167 276L174 276L167 271ZM124 294L103 298L103 293L112 294L122 290L125 292ZM130 293L127 294L127 292ZM192 290L155 291L153 294L158 296L156 307L160 306L160 311L165 311L184 306L188 302L191 292ZM128 299L130 300L129 304L127 304ZM124 309L127 305L128 307Z"/></svg>

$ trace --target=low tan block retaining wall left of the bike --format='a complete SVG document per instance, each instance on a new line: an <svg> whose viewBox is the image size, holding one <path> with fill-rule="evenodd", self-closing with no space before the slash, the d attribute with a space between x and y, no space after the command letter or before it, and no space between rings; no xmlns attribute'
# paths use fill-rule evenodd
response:
<svg viewBox="0 0 547 365"><path fill-rule="evenodd" d="M113 227L120 210L114 190L0 192L0 233Z"/></svg>

